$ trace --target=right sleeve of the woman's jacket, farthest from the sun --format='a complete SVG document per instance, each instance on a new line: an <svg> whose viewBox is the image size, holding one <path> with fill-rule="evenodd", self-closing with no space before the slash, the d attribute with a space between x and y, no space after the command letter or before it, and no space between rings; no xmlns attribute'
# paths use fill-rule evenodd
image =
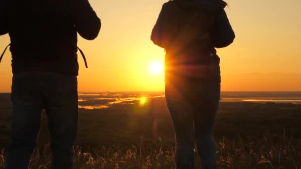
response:
<svg viewBox="0 0 301 169"><path fill-rule="evenodd" d="M225 10L217 16L217 20L211 32L211 38L213 40L214 47L216 48L226 47L234 41L235 33Z"/></svg>

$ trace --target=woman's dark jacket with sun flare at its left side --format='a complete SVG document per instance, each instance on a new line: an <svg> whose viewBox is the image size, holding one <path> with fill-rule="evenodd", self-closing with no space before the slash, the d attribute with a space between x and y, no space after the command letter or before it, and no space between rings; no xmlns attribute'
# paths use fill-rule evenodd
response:
<svg viewBox="0 0 301 169"><path fill-rule="evenodd" d="M228 46L235 38L225 6L223 0L170 0L163 4L151 41L166 49L166 76L220 80L215 47Z"/></svg>

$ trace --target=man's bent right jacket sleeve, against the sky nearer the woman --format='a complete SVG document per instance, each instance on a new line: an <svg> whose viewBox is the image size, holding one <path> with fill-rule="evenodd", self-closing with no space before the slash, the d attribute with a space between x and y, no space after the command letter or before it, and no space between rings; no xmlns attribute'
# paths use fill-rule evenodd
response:
<svg viewBox="0 0 301 169"><path fill-rule="evenodd" d="M77 32L86 40L96 39L101 28L100 18L97 16L88 0L75 1L77 2L77 7L74 11L74 13L76 13L74 25Z"/></svg>

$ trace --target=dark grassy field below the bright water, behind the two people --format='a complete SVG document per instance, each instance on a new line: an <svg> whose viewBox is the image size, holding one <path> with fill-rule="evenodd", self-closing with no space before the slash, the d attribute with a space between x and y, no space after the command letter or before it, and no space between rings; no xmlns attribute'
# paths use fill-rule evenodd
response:
<svg viewBox="0 0 301 169"><path fill-rule="evenodd" d="M174 168L174 132L164 98L145 106L79 110L76 169ZM0 95L0 169L9 144L11 104ZM222 102L215 123L220 169L301 169L301 105ZM44 115L32 169L50 167ZM201 167L196 152L196 169Z"/></svg>

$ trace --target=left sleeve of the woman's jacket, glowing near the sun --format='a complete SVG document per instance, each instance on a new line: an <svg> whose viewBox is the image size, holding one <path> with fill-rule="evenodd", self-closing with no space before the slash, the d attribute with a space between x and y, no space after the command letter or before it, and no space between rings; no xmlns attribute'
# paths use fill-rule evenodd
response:
<svg viewBox="0 0 301 169"><path fill-rule="evenodd" d="M163 46L162 45L162 43L161 43L161 39L162 39L162 37L161 37L161 34L162 34L162 26L163 26L163 22L164 22L164 9L165 9L165 4L163 4L163 6L162 6L162 9L161 9L161 11L160 11L160 14L159 14L159 17L158 17L158 19L157 19L157 21L156 21L156 23L155 23L155 25L154 25L154 27L153 27L153 29L152 29L152 31L151 31L151 41L154 43L154 44L156 44L156 45L158 45L158 46L160 46L160 47L163 47L163 48L165 48L165 46Z"/></svg>

